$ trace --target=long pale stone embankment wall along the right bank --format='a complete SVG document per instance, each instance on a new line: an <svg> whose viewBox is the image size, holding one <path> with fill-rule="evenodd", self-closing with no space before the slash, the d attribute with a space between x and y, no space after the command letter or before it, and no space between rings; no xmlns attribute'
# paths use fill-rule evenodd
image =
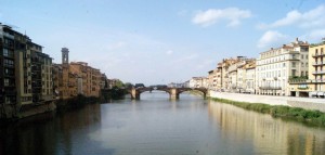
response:
<svg viewBox="0 0 325 155"><path fill-rule="evenodd" d="M211 98L226 99L238 102L263 103L270 105L288 105L294 107L302 107L307 109L318 109L325 112L325 99L317 98L296 98L296 96L278 96L278 95L257 95L245 93L229 93L210 91Z"/></svg>

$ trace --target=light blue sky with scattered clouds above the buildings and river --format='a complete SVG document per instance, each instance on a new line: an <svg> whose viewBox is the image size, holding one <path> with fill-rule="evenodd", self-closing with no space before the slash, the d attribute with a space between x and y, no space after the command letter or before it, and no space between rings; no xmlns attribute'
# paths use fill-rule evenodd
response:
<svg viewBox="0 0 325 155"><path fill-rule="evenodd" d="M325 37L323 0L0 0L0 22L108 78L145 85L207 76L224 57L258 57Z"/></svg>

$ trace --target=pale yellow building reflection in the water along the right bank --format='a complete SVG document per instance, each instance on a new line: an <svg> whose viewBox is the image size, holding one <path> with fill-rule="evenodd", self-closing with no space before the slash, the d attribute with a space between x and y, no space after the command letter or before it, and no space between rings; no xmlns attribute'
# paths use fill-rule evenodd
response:
<svg viewBox="0 0 325 155"><path fill-rule="evenodd" d="M210 101L209 118L221 129L221 135L238 142L251 143L256 154L324 154L325 130L300 122L285 121L268 114ZM226 141L226 138L224 138ZM246 144L247 145L247 144Z"/></svg>

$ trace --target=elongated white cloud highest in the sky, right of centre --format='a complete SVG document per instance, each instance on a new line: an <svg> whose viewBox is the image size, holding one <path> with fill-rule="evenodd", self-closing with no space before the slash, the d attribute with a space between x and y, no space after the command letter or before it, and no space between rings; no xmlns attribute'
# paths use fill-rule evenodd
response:
<svg viewBox="0 0 325 155"><path fill-rule="evenodd" d="M194 24L202 25L204 27L216 24L219 21L229 21L227 26L237 26L240 21L251 16L249 10L240 10L237 8L227 9L210 9L205 12L198 12L192 20Z"/></svg>

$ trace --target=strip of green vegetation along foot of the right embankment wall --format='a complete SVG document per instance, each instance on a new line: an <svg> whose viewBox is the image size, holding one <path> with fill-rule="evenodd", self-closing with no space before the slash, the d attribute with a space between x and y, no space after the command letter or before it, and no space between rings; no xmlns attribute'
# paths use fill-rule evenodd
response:
<svg viewBox="0 0 325 155"><path fill-rule="evenodd" d="M290 107L285 105L269 105L262 103L237 102L225 99L211 99L217 102L232 104L245 109L270 114L273 117L289 118L307 124L325 127L325 113L320 111Z"/></svg>

